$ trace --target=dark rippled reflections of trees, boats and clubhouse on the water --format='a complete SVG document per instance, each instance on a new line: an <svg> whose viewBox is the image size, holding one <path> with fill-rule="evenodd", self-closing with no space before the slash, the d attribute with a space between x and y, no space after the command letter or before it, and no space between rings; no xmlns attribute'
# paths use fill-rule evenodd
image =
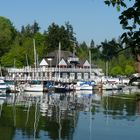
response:
<svg viewBox="0 0 140 140"><path fill-rule="evenodd" d="M106 116L106 122L110 118L134 121L139 113L139 101L95 93L23 93L13 94L4 102L0 109L0 139L14 139L19 134L24 139L73 139L81 112L89 115L87 131L92 139L93 118L99 113Z"/></svg>

